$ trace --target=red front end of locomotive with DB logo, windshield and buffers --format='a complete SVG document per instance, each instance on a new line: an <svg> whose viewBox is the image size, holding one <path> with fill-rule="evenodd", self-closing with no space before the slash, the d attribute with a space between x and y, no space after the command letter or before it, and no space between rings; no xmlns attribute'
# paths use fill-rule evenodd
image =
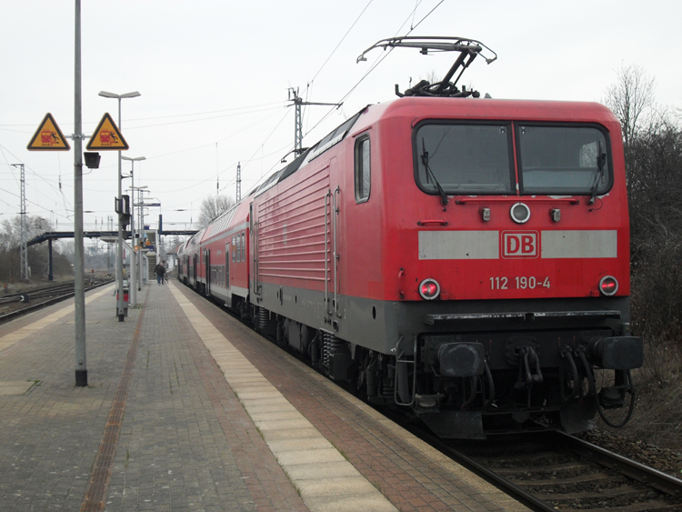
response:
<svg viewBox="0 0 682 512"><path fill-rule="evenodd" d="M395 402L441 437L577 432L597 409L626 405L643 347L629 332L613 115L595 104L404 98L376 132L393 148L377 167L385 268L399 276L389 290Z"/></svg>

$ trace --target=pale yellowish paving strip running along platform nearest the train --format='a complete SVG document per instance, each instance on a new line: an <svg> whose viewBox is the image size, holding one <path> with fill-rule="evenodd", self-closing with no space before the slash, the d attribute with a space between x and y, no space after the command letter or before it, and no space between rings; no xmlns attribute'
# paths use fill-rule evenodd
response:
<svg viewBox="0 0 682 512"><path fill-rule="evenodd" d="M176 286L170 289L311 512L397 511Z"/></svg>

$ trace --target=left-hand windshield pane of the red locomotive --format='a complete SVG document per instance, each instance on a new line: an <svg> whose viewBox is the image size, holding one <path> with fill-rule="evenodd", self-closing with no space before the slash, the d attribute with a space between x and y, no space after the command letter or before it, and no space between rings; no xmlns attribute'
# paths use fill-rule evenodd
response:
<svg viewBox="0 0 682 512"><path fill-rule="evenodd" d="M509 125L425 124L416 128L416 182L457 194L509 194L513 169Z"/></svg>

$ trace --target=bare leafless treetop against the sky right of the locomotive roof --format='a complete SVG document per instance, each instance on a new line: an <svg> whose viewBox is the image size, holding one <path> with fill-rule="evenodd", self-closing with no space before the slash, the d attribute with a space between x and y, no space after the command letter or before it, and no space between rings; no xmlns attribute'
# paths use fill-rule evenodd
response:
<svg viewBox="0 0 682 512"><path fill-rule="evenodd" d="M656 78L647 75L638 65L621 65L616 83L607 88L605 103L622 125L626 146L652 114L655 88Z"/></svg>

